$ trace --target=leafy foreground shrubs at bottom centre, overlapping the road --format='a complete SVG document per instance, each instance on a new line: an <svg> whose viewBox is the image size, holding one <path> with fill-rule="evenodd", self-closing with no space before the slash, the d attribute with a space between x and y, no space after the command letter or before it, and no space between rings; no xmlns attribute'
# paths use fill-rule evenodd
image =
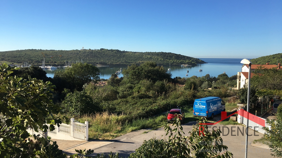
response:
<svg viewBox="0 0 282 158"><path fill-rule="evenodd" d="M199 119L198 123L193 126L190 136L183 136L183 128L181 126L179 116L171 128L165 126L167 140L150 139L144 141L144 144L130 154L130 158L135 157L167 157L167 158L231 158L233 154L228 151L228 147L223 145L221 131L219 129L209 131L205 118ZM199 135L201 128L201 135Z"/></svg>

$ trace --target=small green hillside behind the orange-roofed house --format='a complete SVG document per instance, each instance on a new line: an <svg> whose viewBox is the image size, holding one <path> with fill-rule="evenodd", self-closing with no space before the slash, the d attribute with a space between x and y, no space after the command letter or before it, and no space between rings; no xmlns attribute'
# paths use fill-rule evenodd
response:
<svg viewBox="0 0 282 158"><path fill-rule="evenodd" d="M256 59L251 59L252 64L273 64L277 65L278 63L282 63L282 53L262 56Z"/></svg>

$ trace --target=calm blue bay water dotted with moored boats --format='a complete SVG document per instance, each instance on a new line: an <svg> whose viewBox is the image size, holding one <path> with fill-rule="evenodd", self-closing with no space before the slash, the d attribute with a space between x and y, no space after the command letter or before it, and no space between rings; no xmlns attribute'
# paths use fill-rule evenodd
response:
<svg viewBox="0 0 282 158"><path fill-rule="evenodd" d="M170 72L172 73L172 78L174 77L191 77L193 75L201 77L206 74L210 76L217 77L222 73L226 73L229 77L233 75L237 75L237 72L241 71L242 65L240 62L242 59L224 59L224 58L199 58L207 63L199 64L196 66L190 67L181 67L179 66L171 66ZM111 77L113 73L119 71L120 68L126 69L126 67L117 67L117 66L99 66L98 67L101 71L100 78L108 79ZM164 66L167 70L169 66ZM199 72L199 69L202 69L202 72ZM62 71L63 69L56 69L56 70L45 70L47 72L48 77L53 77L56 71ZM189 71L188 76L187 70ZM123 75L118 75L122 77Z"/></svg>

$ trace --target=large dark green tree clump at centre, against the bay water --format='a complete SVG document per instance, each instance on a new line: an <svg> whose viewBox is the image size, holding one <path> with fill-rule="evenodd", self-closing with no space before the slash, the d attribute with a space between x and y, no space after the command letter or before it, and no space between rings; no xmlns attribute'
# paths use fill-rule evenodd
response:
<svg viewBox="0 0 282 158"><path fill-rule="evenodd" d="M122 84L138 84L141 80L150 80L152 83L163 80L172 81L172 74L152 61L142 63L140 66L128 66L122 74Z"/></svg>

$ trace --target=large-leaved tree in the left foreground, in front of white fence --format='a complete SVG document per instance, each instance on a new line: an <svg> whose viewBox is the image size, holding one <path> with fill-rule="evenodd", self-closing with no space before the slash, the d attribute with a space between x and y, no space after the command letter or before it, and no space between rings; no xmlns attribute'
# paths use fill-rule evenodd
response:
<svg viewBox="0 0 282 158"><path fill-rule="evenodd" d="M37 132L39 129L46 131L48 126L45 123L61 123L61 119L54 118L60 112L52 102L54 86L49 81L12 77L11 73L16 69L6 63L0 66L0 114L5 118L5 124L0 127L0 157L60 157L62 151L58 150L58 145L48 145L44 138L34 135L39 143L31 147L34 143L26 131L28 127ZM47 116L53 118L47 120ZM50 130L54 129L51 124Z"/></svg>

